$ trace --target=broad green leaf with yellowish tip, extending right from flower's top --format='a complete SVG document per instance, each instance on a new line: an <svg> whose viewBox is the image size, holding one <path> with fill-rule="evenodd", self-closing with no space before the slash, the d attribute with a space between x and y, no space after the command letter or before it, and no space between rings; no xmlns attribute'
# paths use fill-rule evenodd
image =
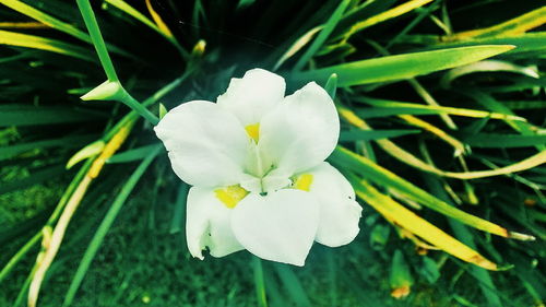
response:
<svg viewBox="0 0 546 307"><path fill-rule="evenodd" d="M388 56L317 70L294 72L290 78L300 83L317 81L324 84L332 73L337 73L339 86L399 81L468 64L513 48L513 46L508 45L486 45Z"/></svg>

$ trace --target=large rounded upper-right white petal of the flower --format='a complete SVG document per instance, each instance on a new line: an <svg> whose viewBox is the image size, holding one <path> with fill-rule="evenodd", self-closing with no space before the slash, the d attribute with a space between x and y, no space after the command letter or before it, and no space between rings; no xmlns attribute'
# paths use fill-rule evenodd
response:
<svg viewBox="0 0 546 307"><path fill-rule="evenodd" d="M258 145L280 173L298 173L323 162L340 137L332 98L311 82L287 96L260 122Z"/></svg>

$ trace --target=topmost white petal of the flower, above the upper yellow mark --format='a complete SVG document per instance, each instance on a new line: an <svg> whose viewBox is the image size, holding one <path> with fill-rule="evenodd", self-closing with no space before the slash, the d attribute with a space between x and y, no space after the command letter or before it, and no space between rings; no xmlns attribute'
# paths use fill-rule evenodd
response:
<svg viewBox="0 0 546 307"><path fill-rule="evenodd" d="M284 98L284 79L263 69L252 69L242 79L233 78L217 103L235 114L242 126L260 122L262 116Z"/></svg>

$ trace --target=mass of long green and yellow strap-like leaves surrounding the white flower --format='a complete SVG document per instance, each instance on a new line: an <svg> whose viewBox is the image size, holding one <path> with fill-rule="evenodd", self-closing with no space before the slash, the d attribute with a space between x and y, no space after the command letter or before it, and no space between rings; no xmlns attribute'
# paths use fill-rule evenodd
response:
<svg viewBox="0 0 546 307"><path fill-rule="evenodd" d="M81 283L119 212L143 208L123 206L144 177L140 187L154 205L133 212L135 224L147 219L146 235L157 239L180 232L187 187L170 174L151 130L159 106L214 101L229 78L254 67L276 70L292 88L312 80L335 95L345 123L330 162L352 178L366 219L351 247L316 248L320 262L296 273L253 260L258 296L244 290L248 299L239 300L226 291L226 300L213 304L396 305L366 281L389 271L380 263L403 271L391 274L396 285L402 275L413 288L423 287L406 298L414 305L427 306L423 295L431 284L440 290L429 297L448 294L438 306L543 304L544 246L513 240L546 237L546 9L538 2L106 0L93 9L86 0L76 2L0 0L9 20L0 23L7 103L0 105L0 219L7 221L0 228L7 246L0 283L13 279L19 291L15 297L0 292L5 304L28 297L34 306L48 276L70 268L60 274L67 285L48 287L40 297L51 295L45 299L52 306L87 306L76 305ZM59 191L61 184L57 206L50 203L59 193L28 214L10 205L13 198L35 202L24 192L15 196L28 187ZM173 205L158 210L162 202ZM165 219L159 211L171 212L169 229L156 224ZM399 237L383 231L385 223ZM415 253L414 246L430 257ZM183 253L186 247L170 248ZM249 265L244 256L233 258L205 265ZM323 263L327 269L319 269ZM124 273L132 279L142 270ZM313 281L314 271L328 282ZM205 283L214 273L206 276ZM476 281L477 294L468 285ZM376 290L388 293L383 283ZM121 302L120 295L110 298ZM199 294L181 297L203 304Z"/></svg>

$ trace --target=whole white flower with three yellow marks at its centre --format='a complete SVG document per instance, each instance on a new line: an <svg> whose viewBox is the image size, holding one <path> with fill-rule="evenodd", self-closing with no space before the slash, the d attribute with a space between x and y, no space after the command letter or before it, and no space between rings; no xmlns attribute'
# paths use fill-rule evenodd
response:
<svg viewBox="0 0 546 307"><path fill-rule="evenodd" d="M280 75L249 70L216 104L185 103L155 127L173 169L193 186L186 225L193 257L247 249L304 265L314 240L336 247L358 234L355 191L324 162L340 135L332 99L314 82L284 92Z"/></svg>

